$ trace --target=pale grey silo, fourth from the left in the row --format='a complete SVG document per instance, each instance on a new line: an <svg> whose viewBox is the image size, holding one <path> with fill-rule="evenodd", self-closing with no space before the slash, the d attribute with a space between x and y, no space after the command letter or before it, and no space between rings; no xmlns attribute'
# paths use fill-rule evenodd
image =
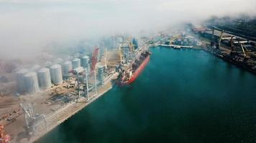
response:
<svg viewBox="0 0 256 143"><path fill-rule="evenodd" d="M55 64L50 67L50 78L52 80L52 84L61 84L63 82L60 64Z"/></svg>

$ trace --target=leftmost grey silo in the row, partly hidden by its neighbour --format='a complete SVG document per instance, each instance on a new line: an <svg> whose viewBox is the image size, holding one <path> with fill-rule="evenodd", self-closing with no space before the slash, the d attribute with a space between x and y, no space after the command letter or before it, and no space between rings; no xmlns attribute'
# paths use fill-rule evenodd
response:
<svg viewBox="0 0 256 143"><path fill-rule="evenodd" d="M24 81L24 74L27 74L29 70L27 69L19 69L16 72L16 84L17 84L17 89L18 92L26 92L26 85Z"/></svg>

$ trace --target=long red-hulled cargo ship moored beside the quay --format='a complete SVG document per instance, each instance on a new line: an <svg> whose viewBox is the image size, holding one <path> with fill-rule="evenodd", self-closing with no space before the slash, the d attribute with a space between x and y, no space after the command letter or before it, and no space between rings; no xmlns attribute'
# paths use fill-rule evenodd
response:
<svg viewBox="0 0 256 143"><path fill-rule="evenodd" d="M150 54L148 50L139 51L134 60L122 69L119 83L121 85L132 84L150 61Z"/></svg>

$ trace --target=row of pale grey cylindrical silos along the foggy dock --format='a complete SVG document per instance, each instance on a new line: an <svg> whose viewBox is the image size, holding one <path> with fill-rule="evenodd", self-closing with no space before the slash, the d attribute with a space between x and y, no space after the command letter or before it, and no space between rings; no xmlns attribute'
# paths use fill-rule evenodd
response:
<svg viewBox="0 0 256 143"><path fill-rule="evenodd" d="M35 93L40 89L48 89L52 84L63 83L63 78L68 79L73 69L83 66L84 69L89 67L89 56L83 56L81 59L63 62L62 59L56 59L53 63L47 61L42 67L35 64L28 69L17 71L17 89L20 93ZM54 64L55 63L55 64ZM58 63L58 64L56 64ZM61 64L61 66L60 66Z"/></svg>

